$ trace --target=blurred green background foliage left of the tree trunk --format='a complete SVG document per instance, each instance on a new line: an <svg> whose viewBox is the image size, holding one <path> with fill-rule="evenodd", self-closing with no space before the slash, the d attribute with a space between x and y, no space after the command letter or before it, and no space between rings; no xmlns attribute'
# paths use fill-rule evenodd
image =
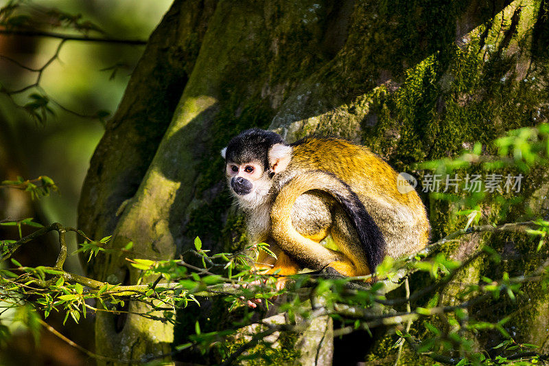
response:
<svg viewBox="0 0 549 366"><path fill-rule="evenodd" d="M172 1L6 1L0 24L76 36L146 41ZM48 174L58 193L40 201L47 222L76 224L76 206L89 159L112 115L143 45L66 41L0 34L0 133L25 179ZM59 48L59 49L58 49ZM58 56L54 59L58 49ZM5 91L25 89L22 93ZM23 67L21 67L23 66ZM35 71L32 71L35 70ZM16 106L23 106L18 108ZM0 180L15 179L4 176ZM72 239L71 239L72 240ZM75 249L75 242L71 247ZM69 259L78 267L76 258Z"/></svg>

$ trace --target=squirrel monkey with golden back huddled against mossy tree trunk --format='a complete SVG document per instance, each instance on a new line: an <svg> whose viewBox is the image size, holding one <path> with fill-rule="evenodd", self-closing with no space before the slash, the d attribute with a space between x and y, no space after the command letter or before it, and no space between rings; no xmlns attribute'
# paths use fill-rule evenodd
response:
<svg viewBox="0 0 549 366"><path fill-rule="evenodd" d="M331 267L368 275L385 255L398 258L428 243L421 199L410 186L400 193L395 170L364 146L317 137L288 145L252 128L221 153L251 242L266 242L277 255L260 251L256 270L285 276ZM320 244L329 234L338 251Z"/></svg>

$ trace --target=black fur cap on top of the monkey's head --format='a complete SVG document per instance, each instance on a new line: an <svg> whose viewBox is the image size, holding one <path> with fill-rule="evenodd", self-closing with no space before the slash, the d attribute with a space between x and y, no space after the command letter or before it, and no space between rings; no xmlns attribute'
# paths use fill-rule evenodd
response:
<svg viewBox="0 0 549 366"><path fill-rule="evenodd" d="M284 144L278 133L260 128L250 128L229 141L225 150L225 161L245 164L250 161L263 161L268 168L268 152L274 144Z"/></svg>

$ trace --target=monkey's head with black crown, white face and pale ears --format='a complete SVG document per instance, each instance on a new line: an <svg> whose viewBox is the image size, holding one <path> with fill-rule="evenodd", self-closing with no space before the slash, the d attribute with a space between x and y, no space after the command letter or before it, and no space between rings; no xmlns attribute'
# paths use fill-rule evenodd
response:
<svg viewBox="0 0 549 366"><path fill-rule="evenodd" d="M240 205L254 208L268 198L274 174L292 159L292 148L274 132L251 128L229 141L221 150L231 192Z"/></svg>

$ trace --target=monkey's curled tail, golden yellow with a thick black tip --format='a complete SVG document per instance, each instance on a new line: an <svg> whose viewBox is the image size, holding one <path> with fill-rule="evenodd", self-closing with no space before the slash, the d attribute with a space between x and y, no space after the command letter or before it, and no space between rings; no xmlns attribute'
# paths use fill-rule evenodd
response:
<svg viewBox="0 0 549 366"><path fill-rule="evenodd" d="M330 258L333 260L333 251L304 238L292 225L292 207L296 199L310 190L327 192L344 209L358 234L369 271L374 273L386 252L383 234L351 187L329 172L323 170L301 172L283 186L272 205L273 239L292 257L307 258L307 264L317 268L329 262Z"/></svg>

